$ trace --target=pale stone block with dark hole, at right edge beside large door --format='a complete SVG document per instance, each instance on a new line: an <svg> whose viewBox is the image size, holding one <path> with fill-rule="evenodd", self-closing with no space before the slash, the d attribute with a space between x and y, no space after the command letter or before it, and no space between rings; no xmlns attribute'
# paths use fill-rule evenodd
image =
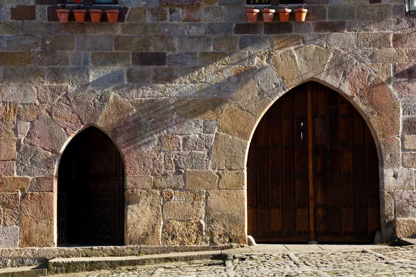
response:
<svg viewBox="0 0 416 277"><path fill-rule="evenodd" d="M382 190L415 190L415 171L407 168L384 170Z"/></svg>

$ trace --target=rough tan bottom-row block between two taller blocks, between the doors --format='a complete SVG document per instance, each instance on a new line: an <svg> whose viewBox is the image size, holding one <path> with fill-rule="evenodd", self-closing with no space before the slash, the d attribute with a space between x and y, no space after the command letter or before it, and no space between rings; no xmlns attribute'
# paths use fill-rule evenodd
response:
<svg viewBox="0 0 416 277"><path fill-rule="evenodd" d="M168 221L163 225L163 244L201 244L204 240L204 226L199 221Z"/></svg>

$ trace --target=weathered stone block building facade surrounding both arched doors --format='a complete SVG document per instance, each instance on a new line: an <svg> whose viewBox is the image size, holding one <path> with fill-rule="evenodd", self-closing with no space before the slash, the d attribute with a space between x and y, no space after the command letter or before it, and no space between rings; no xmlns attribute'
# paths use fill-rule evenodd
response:
<svg viewBox="0 0 416 277"><path fill-rule="evenodd" d="M124 244L247 242L245 164L268 107L313 80L379 155L383 240L416 234L416 35L403 0L304 0L249 24L245 0L119 0L119 23L0 3L0 247L58 244L58 166L89 126L125 170Z"/></svg>

